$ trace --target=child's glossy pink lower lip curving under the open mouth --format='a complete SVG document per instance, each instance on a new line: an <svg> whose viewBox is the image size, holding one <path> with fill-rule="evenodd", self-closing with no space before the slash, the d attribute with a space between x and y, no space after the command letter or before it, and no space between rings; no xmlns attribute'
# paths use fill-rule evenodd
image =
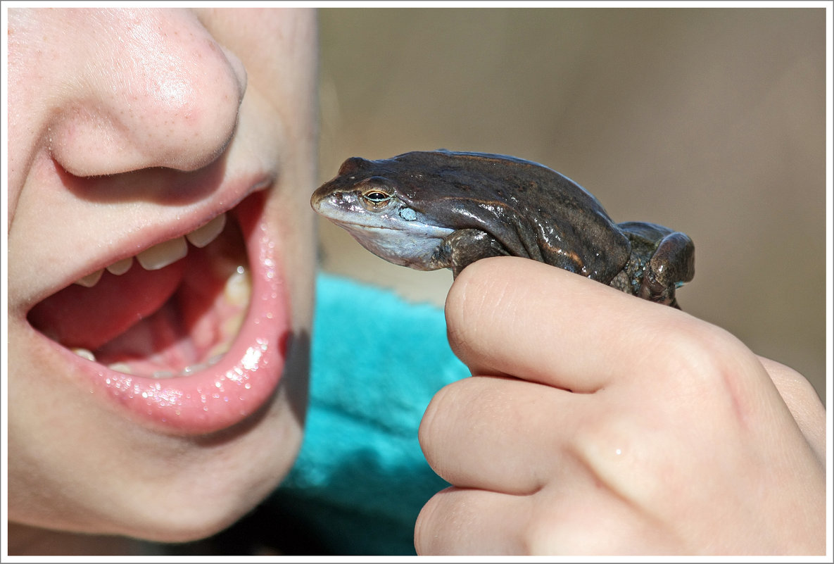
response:
<svg viewBox="0 0 834 564"><path fill-rule="evenodd" d="M239 204L252 297L244 324L223 359L194 375L155 379L109 370L62 347L72 357L70 362L92 377L93 393L104 392L140 422L177 435L222 431L266 404L284 370L289 309L263 209L263 192Z"/></svg>

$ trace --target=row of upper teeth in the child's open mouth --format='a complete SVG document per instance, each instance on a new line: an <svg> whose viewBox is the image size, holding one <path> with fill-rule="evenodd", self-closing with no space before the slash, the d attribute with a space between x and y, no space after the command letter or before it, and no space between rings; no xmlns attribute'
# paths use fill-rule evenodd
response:
<svg viewBox="0 0 834 564"><path fill-rule="evenodd" d="M226 214L220 214L207 224L194 229L191 233L176 239L163 241L162 243L153 245L149 249L143 250L136 255L136 260L146 270L164 268L168 264L175 263L188 254L188 243L186 243L186 239L195 247L204 247L214 241L214 239L217 239L220 232L223 231L225 224ZM128 257L110 264L107 269L111 274L121 275L127 272L132 265L133 257ZM104 269L97 270L92 274L87 274L83 278L76 280L75 283L90 288L98 283L98 279L101 278L103 272Z"/></svg>

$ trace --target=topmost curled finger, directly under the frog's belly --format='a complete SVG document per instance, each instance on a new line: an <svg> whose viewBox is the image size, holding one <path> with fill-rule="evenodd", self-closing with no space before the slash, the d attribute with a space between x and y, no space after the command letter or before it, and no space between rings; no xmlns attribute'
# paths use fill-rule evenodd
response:
<svg viewBox="0 0 834 564"><path fill-rule="evenodd" d="M664 357L701 356L691 350L693 335L715 343L729 335L681 310L516 257L467 266L446 300L446 324L452 350L473 374L585 393L656 372Z"/></svg>

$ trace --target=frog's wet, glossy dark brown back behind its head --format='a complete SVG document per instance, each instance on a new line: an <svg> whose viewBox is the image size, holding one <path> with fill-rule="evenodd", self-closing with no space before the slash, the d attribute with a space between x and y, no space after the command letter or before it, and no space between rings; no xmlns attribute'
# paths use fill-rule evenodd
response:
<svg viewBox="0 0 834 564"><path fill-rule="evenodd" d="M630 244L599 200L541 164L500 154L415 151L389 159L408 178L404 198L420 205L435 187L432 214L455 229L482 229L510 254L608 284ZM444 189L437 187L444 185Z"/></svg>

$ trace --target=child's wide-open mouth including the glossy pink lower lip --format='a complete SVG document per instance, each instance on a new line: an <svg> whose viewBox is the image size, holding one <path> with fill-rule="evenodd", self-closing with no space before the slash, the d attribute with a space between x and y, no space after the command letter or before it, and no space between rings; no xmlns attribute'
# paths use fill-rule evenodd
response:
<svg viewBox="0 0 834 564"><path fill-rule="evenodd" d="M289 322L264 192L119 259L29 311L74 370L145 420L219 431L257 410L283 369Z"/></svg>

